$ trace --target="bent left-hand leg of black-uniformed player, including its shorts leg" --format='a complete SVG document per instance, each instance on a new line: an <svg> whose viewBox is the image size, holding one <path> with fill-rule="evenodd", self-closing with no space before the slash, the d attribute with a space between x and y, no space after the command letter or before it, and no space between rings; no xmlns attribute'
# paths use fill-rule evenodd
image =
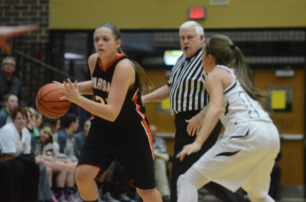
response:
<svg viewBox="0 0 306 202"><path fill-rule="evenodd" d="M84 201L98 199L95 179L100 178L115 159L109 152L112 142L104 138L108 134L110 132L101 128L98 122L91 122L75 171L75 181Z"/></svg>

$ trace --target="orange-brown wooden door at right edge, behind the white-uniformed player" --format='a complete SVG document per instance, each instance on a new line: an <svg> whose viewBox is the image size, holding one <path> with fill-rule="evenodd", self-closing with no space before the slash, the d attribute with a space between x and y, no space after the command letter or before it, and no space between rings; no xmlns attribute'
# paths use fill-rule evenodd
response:
<svg viewBox="0 0 306 202"><path fill-rule="evenodd" d="M254 81L259 89L273 86L291 86L293 89L292 112L270 113L279 134L289 137L281 141L282 159L279 165L282 185L304 183L304 141L290 140L290 135L293 137L304 134L305 70L299 68L294 71L294 77L276 77L272 68L258 68L253 71ZM264 107L265 103L263 102Z"/></svg>

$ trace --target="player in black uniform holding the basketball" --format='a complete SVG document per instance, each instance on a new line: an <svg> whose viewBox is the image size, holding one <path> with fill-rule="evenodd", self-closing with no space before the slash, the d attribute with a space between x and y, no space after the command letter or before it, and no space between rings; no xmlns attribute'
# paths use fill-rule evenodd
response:
<svg viewBox="0 0 306 202"><path fill-rule="evenodd" d="M94 32L96 53L88 59L91 80L63 82L67 99L93 114L77 167L84 201L98 201L95 178L117 159L144 202L162 202L156 189L151 133L141 102L142 86L152 88L143 69L120 49L121 35L111 23ZM94 101L81 94L93 94Z"/></svg>

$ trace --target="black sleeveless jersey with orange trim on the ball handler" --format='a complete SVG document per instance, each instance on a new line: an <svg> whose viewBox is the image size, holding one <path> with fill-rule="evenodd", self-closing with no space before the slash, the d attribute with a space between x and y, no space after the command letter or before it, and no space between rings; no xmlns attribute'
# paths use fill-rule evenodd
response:
<svg viewBox="0 0 306 202"><path fill-rule="evenodd" d="M92 73L91 87L93 96L96 102L101 104L108 103L108 94L112 84L112 78L116 65L121 60L130 59L123 53L119 54L117 58L108 64L106 70L102 68L100 57L97 58L97 62ZM131 61L132 63L132 61ZM134 66L134 65L133 65ZM136 72L137 74L137 72ZM135 78L135 84L127 91L122 108L119 112L117 119L114 122L107 121L98 116L94 116L93 122L102 125L109 130L123 130L129 128L137 122L145 119L145 108L141 102L141 92L139 89L139 82L137 76Z"/></svg>

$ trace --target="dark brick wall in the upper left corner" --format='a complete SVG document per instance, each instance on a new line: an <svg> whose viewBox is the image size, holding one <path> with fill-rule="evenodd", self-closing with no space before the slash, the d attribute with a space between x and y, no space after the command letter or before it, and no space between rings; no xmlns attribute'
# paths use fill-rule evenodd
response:
<svg viewBox="0 0 306 202"><path fill-rule="evenodd" d="M24 33L8 40L12 55L16 59L15 76L19 77L25 91L28 106L35 107L38 89L50 82L48 69L40 63L48 64L49 0L0 0L0 26L34 24L36 31ZM7 56L0 49L0 62Z"/></svg>

